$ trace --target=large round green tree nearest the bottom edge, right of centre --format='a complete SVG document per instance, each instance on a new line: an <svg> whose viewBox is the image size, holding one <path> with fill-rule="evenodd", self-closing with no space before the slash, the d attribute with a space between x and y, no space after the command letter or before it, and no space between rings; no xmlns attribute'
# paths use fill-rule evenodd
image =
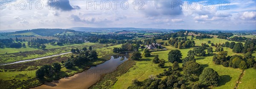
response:
<svg viewBox="0 0 256 89"><path fill-rule="evenodd" d="M204 86L218 86L219 75L211 68L205 68L199 76L199 81Z"/></svg>

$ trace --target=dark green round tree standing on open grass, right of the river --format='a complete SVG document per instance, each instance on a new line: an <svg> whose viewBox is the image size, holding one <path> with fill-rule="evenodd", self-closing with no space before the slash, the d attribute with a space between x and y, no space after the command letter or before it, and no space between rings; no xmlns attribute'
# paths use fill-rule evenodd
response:
<svg viewBox="0 0 256 89"><path fill-rule="evenodd" d="M180 58L182 58L180 50L177 50L177 49L176 50L171 50L168 53L168 60L171 63L174 63L175 61L180 62L181 61Z"/></svg>

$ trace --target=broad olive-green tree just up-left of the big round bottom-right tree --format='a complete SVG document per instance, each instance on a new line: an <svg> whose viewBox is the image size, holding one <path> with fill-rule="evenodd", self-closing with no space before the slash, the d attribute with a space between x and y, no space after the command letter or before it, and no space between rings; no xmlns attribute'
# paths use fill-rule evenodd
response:
<svg viewBox="0 0 256 89"><path fill-rule="evenodd" d="M196 63L195 61L189 61L186 63L186 66L184 67L184 74L186 75L200 75L203 71L203 67Z"/></svg>

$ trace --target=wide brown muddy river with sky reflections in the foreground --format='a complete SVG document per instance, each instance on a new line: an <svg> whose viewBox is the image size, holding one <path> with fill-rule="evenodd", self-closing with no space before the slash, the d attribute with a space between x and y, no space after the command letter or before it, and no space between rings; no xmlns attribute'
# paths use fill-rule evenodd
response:
<svg viewBox="0 0 256 89"><path fill-rule="evenodd" d="M110 60L92 66L90 69L84 70L81 73L71 77L61 78L60 80L46 82L32 89L87 89L96 83L101 75L115 71L117 66L126 60L128 60L128 54L111 56Z"/></svg>

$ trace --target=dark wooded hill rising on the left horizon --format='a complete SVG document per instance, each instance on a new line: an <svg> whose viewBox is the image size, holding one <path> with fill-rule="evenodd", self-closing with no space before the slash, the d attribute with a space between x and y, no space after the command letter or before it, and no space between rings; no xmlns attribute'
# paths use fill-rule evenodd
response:
<svg viewBox="0 0 256 89"><path fill-rule="evenodd" d="M54 34L61 34L63 32L76 32L76 31L70 30L70 29L32 29L32 30L17 31L15 33L17 34L33 33L33 35L37 34L41 36L52 36Z"/></svg>

